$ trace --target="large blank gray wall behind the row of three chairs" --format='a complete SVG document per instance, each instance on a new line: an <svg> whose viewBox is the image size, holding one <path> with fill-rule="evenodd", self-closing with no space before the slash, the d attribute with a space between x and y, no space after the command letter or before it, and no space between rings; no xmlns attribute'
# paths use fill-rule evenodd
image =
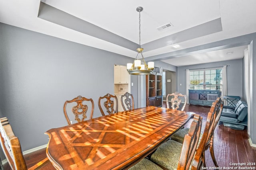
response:
<svg viewBox="0 0 256 170"><path fill-rule="evenodd" d="M8 117L22 150L48 143L44 132L67 125L66 100L114 94L114 64L134 59L0 23L0 113ZM138 106L137 76L131 93Z"/></svg>

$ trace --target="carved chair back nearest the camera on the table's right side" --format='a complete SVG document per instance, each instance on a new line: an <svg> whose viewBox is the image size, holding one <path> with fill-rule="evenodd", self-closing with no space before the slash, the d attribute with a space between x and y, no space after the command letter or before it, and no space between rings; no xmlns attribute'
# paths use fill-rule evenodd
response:
<svg viewBox="0 0 256 170"><path fill-rule="evenodd" d="M194 115L188 134L184 137L178 170L188 170L196 152L202 127L202 117Z"/></svg>

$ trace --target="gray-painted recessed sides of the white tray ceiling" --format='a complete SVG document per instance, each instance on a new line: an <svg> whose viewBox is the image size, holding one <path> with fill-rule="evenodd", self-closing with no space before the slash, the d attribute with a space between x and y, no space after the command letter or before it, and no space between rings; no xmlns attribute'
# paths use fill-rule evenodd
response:
<svg viewBox="0 0 256 170"><path fill-rule="evenodd" d="M76 16L68 14L62 10L54 8L48 4L45 4L44 2L40 2L38 18L50 21L52 23L56 23L58 25L62 25L64 27L73 29L75 31L79 31L81 33L85 33L87 35L91 35L93 37L102 39L104 41L108 41L116 45L120 45L130 50L134 50L136 49L136 47L138 47L138 44L128 39L125 39L101 27L98 27L97 25L94 25L88 21L77 18ZM163 25L162 28L164 29L164 27L168 28L172 26L172 23L167 23ZM180 43L183 41L188 41L190 39L202 37L204 35L209 35L219 31L222 31L220 18L208 21L206 23L202 23L200 25L196 25L194 27L185 29L178 33L174 33L172 35L168 35L166 37L162 37L155 41L151 41L149 43L144 44L143 48L146 49L145 51L151 51L154 49L170 45L168 44L170 40L172 40L172 43Z"/></svg>

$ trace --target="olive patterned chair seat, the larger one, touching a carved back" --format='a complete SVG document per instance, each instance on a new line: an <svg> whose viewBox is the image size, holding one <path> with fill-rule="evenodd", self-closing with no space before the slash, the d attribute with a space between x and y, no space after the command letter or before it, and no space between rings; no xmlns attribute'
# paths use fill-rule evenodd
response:
<svg viewBox="0 0 256 170"><path fill-rule="evenodd" d="M151 156L151 160L159 165L166 167L169 170L176 170L180 159L180 153L182 150L182 144L168 140L163 143L156 152Z"/></svg>

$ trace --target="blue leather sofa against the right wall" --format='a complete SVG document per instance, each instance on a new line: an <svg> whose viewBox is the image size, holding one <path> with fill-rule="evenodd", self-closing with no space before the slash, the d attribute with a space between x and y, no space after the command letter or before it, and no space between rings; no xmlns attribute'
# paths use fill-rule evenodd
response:
<svg viewBox="0 0 256 170"><path fill-rule="evenodd" d="M220 122L232 129L243 130L247 126L248 106L246 102L238 101L235 107L223 106Z"/></svg>

